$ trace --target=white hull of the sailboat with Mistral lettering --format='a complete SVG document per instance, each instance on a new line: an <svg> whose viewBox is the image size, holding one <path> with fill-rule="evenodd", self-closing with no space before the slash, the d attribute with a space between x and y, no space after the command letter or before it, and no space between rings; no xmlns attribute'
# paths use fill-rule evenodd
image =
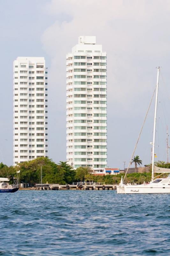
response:
<svg viewBox="0 0 170 256"><path fill-rule="evenodd" d="M170 186L117 186L117 194L170 194Z"/></svg>

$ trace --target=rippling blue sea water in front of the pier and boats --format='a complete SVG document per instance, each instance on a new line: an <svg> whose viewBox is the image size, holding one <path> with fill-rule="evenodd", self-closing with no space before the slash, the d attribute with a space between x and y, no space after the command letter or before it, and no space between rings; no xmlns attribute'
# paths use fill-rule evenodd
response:
<svg viewBox="0 0 170 256"><path fill-rule="evenodd" d="M170 195L0 194L0 255L170 255Z"/></svg>

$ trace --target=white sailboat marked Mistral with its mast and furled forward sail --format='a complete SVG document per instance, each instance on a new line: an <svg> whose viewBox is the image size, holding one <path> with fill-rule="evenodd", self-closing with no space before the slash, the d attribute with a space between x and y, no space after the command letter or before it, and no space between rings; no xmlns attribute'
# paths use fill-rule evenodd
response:
<svg viewBox="0 0 170 256"><path fill-rule="evenodd" d="M138 139L137 139L137 143L135 145L134 151L132 153L132 157L130 159L129 162L129 166L127 168L127 171L125 173L124 179L121 179L121 182L119 184L119 186L117 186L117 194L165 194L165 193L170 193L170 169L167 168L159 168L157 166L154 166L154 155L155 155L155 134L156 134L156 116L157 116L157 102L158 102L158 87L159 87L159 71L160 71L160 67L158 67L157 70L157 83L156 83L156 97L155 97L155 110L154 110L154 125L153 125L153 143L152 143L152 180L150 181L150 183L143 183L141 185L131 185L131 184L123 184L126 174L128 172L128 169L130 167L131 161L132 161L132 157L134 155L135 149L137 147L137 143L140 137L140 134L142 132L142 128L144 126L144 123L142 125L141 131L139 133ZM153 96L152 96L153 98ZM151 100L152 102L152 100ZM150 102L150 105L151 105ZM149 108L150 108L149 105ZM148 111L149 111L148 108ZM147 113L148 113L147 111ZM146 114L147 116L147 114ZM145 116L145 119L146 119ZM144 119L144 122L145 122ZM164 174L164 173L168 173L167 178L157 178L160 177L160 175L156 176L155 179L154 178L154 173L161 173L160 175Z"/></svg>

